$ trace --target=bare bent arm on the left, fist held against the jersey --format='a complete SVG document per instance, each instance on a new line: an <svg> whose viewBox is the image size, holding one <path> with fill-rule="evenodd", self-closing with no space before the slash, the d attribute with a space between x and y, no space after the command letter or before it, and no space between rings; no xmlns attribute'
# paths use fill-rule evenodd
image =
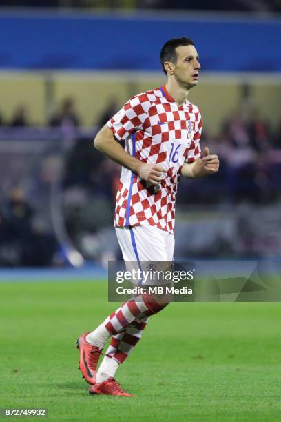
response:
<svg viewBox="0 0 281 422"><path fill-rule="evenodd" d="M165 169L161 165L143 163L142 161L132 157L128 154L116 141L114 134L107 125L96 134L94 139L94 146L97 150L101 151L108 158L116 163L123 165L123 167L132 170L138 174L141 179L158 185L163 179L163 172Z"/></svg>

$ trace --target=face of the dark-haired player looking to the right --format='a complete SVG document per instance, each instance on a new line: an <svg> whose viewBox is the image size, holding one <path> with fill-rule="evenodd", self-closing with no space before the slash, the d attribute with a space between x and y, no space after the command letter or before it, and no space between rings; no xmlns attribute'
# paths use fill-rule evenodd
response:
<svg viewBox="0 0 281 422"><path fill-rule="evenodd" d="M198 84L198 72L201 68L199 56L194 46L176 48L178 60L174 65L174 77L180 85L192 88Z"/></svg>

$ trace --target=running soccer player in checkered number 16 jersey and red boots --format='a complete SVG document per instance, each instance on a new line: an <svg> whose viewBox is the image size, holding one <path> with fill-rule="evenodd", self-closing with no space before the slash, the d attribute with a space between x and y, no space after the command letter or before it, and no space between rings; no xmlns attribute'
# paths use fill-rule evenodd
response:
<svg viewBox="0 0 281 422"><path fill-rule="evenodd" d="M94 145L122 165L115 228L125 261L172 261L178 179L218 172L218 157L200 152L200 111L187 100L198 84L200 63L189 38L170 39L160 62L167 83L138 94L98 132ZM123 303L92 332L78 339L79 367L90 394L132 396L114 379L118 366L141 339L149 316L167 300L148 293ZM100 367L105 342L111 342Z"/></svg>

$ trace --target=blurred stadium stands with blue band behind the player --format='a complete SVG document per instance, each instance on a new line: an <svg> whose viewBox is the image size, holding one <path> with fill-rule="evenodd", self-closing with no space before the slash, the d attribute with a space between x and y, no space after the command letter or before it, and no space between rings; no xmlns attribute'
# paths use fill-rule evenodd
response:
<svg viewBox="0 0 281 422"><path fill-rule="evenodd" d="M160 47L185 35L202 65L190 101L221 168L180 183L176 259L280 257L281 3L210 4L1 1L2 268L120 258L120 168L92 140L129 97L165 81Z"/></svg>

